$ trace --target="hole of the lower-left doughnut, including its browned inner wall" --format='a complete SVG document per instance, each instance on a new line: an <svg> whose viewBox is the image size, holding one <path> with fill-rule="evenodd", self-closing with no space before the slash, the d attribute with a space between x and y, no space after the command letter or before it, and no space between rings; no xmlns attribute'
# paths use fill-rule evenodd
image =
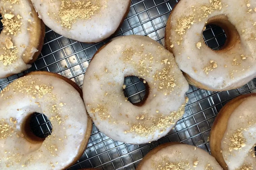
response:
<svg viewBox="0 0 256 170"><path fill-rule="evenodd" d="M43 141L51 134L52 124L44 114L32 113L25 119L22 131L29 141Z"/></svg>

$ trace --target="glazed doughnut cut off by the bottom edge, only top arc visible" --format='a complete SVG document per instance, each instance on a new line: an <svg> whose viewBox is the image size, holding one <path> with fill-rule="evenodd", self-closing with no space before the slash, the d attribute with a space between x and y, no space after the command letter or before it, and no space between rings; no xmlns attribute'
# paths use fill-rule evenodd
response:
<svg viewBox="0 0 256 170"><path fill-rule="evenodd" d="M204 150L178 142L162 144L151 150L140 161L136 170L222 170Z"/></svg>

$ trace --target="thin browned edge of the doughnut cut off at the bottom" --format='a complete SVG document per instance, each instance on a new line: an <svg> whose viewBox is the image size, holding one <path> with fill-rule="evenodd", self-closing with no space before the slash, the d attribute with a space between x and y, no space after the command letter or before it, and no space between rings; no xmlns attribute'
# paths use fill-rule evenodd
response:
<svg viewBox="0 0 256 170"><path fill-rule="evenodd" d="M150 157L152 155L155 155L158 151L160 151L161 149L168 147L168 146L172 146L172 145L180 145L183 143L179 143L179 142L170 142L170 143L165 143L162 145L159 145L158 147L154 148L153 150L151 150L145 157L143 157L143 159L140 161L138 167L136 168L136 170L141 170L141 168L143 167L143 164L150 159Z"/></svg>

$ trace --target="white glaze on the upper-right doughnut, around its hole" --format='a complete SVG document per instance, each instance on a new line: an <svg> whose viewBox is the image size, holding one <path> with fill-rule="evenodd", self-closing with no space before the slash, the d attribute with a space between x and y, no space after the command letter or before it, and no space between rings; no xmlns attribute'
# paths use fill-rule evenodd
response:
<svg viewBox="0 0 256 170"><path fill-rule="evenodd" d="M217 0L212 0L212 2L217 2ZM172 29L169 40L173 44L172 51L175 60L182 71L203 86L221 91L239 88L256 75L256 11L254 10L256 1L218 0L218 2L221 2L222 9L212 11L201 21L195 19L193 24L190 24L190 28L186 29L182 35L181 45L178 45L180 36L175 32L178 19L193 14L197 17L199 15L197 12L201 11L201 6L211 6L209 0L179 1L171 13ZM250 7L247 7L247 4L250 4ZM251 11L248 12L249 10ZM217 15L227 16L229 21L235 25L241 39L241 44L235 45L231 50L224 53L211 50L204 43L202 37L207 20ZM201 43L200 49L196 47L198 42ZM241 55L247 58L243 60ZM241 65L233 65L234 59ZM217 62L218 67L206 74L203 68L209 65L211 60ZM196 72L193 67L197 70Z"/></svg>

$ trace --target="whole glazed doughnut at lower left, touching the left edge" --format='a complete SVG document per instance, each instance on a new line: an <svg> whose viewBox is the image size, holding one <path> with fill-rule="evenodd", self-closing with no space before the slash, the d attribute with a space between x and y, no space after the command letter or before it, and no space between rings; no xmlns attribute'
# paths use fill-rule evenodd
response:
<svg viewBox="0 0 256 170"><path fill-rule="evenodd" d="M65 169L87 146L92 121L82 90L55 73L38 71L11 82L0 97L0 169ZM50 136L30 130L33 113L51 121Z"/></svg>

